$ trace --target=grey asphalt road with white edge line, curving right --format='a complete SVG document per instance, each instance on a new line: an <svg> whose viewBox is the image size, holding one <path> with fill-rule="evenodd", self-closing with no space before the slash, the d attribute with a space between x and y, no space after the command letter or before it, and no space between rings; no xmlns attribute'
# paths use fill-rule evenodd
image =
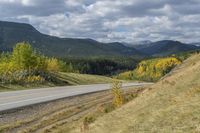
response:
<svg viewBox="0 0 200 133"><path fill-rule="evenodd" d="M143 86L149 83L125 83L123 87ZM0 112L56 99L109 90L110 84L93 84L31 89L0 93Z"/></svg>

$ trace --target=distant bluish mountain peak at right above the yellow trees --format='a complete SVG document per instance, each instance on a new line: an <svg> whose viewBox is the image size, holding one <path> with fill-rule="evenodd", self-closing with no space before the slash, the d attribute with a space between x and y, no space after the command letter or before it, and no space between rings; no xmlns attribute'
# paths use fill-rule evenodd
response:
<svg viewBox="0 0 200 133"><path fill-rule="evenodd" d="M141 45L141 46L137 45L134 46L134 48L146 55L151 55L151 56L167 56L179 52L186 52L199 49L198 46L184 44L179 41L172 41L172 40L153 42L148 45Z"/></svg>

